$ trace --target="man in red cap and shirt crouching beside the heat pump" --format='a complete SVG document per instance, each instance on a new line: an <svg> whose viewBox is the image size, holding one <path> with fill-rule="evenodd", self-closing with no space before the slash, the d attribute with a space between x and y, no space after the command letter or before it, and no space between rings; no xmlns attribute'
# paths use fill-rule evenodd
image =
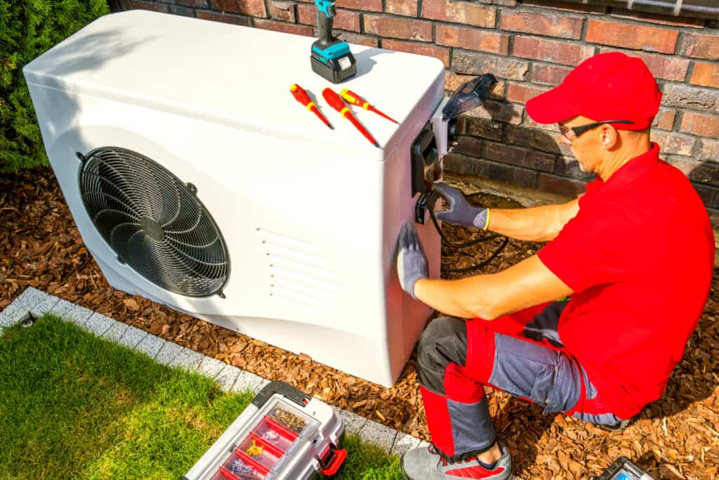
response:
<svg viewBox="0 0 719 480"><path fill-rule="evenodd" d="M641 59L596 55L526 104L536 122L558 123L582 170L597 174L580 199L490 211L435 186L449 202L437 213L445 221L549 240L505 271L429 279L414 226L403 227L400 284L449 315L419 342L432 445L403 456L407 478L510 478L484 386L610 429L661 397L706 302L714 239L687 177L649 141L660 101Z"/></svg>

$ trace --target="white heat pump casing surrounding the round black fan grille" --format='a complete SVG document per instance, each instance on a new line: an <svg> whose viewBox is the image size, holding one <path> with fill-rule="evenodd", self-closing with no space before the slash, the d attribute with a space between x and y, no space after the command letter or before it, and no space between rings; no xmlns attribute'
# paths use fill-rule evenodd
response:
<svg viewBox="0 0 719 480"><path fill-rule="evenodd" d="M396 239L416 202L411 143L442 99L444 65L352 45L357 76L332 86L311 71L312 41L131 11L89 24L24 75L70 212L112 286L390 386L430 313L400 289ZM295 82L336 130L293 99ZM401 123L354 109L375 148L321 99L326 86ZM78 185L76 153L102 147L196 186L229 250L224 298L174 294L117 260ZM439 276L439 235L417 227Z"/></svg>

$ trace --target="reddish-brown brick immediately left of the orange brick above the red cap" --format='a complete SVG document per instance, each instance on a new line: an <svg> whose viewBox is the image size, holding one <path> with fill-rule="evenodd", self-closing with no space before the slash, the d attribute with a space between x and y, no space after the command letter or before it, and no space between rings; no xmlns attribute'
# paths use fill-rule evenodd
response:
<svg viewBox="0 0 719 480"><path fill-rule="evenodd" d="M502 12L500 28L513 32L533 33L549 37L571 38L582 37L584 19L564 15L539 12Z"/></svg>

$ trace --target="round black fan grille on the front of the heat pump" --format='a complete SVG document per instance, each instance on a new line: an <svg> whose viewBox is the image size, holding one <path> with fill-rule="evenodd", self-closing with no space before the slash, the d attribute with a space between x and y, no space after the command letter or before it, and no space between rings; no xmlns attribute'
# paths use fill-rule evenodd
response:
<svg viewBox="0 0 719 480"><path fill-rule="evenodd" d="M120 261L177 294L221 294L229 254L193 186L124 148L98 148L83 160L83 202Z"/></svg>

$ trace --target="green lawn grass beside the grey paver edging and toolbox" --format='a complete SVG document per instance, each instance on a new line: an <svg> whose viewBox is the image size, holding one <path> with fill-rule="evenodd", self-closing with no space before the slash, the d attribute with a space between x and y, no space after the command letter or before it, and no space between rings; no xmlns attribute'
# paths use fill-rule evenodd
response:
<svg viewBox="0 0 719 480"><path fill-rule="evenodd" d="M0 479L179 479L252 394L46 316L0 337ZM398 458L347 435L336 479L401 479Z"/></svg>

